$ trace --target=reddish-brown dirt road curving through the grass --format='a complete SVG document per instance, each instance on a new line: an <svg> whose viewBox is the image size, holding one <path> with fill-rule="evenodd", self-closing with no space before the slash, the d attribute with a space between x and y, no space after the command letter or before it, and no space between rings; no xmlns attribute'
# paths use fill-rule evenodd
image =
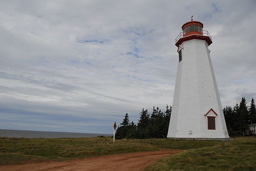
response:
<svg viewBox="0 0 256 171"><path fill-rule="evenodd" d="M143 170L148 165L153 164L158 159L180 153L179 149L161 149L156 152L138 152L100 157L91 157L84 159L75 159L63 162L41 162L27 163L20 165L0 165L0 170Z"/></svg>

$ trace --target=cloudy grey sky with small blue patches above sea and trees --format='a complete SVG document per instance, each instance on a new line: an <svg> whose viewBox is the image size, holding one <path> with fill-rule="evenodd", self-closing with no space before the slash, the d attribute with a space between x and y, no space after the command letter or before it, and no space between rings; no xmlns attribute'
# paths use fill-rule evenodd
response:
<svg viewBox="0 0 256 171"><path fill-rule="evenodd" d="M256 1L1 1L0 129L112 134L172 105L175 38L212 36L222 107L256 98Z"/></svg>

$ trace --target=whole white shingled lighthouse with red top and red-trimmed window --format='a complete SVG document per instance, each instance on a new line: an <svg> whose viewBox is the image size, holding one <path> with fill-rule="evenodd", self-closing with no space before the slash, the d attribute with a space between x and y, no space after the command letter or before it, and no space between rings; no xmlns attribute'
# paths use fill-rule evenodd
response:
<svg viewBox="0 0 256 171"><path fill-rule="evenodd" d="M203 24L193 18L176 38L179 63L168 138L229 138L210 60L211 43Z"/></svg>

